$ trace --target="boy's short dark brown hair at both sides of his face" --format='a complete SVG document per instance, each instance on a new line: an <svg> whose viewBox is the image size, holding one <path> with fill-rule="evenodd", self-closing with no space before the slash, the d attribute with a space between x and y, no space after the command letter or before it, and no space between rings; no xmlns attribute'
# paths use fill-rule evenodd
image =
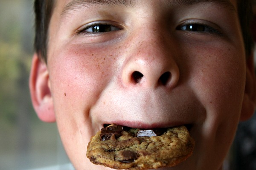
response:
<svg viewBox="0 0 256 170"><path fill-rule="evenodd" d="M55 0L35 0L35 51L47 63L48 28ZM238 14L244 38L246 56L252 53L253 38L250 24L253 17L252 0L237 0Z"/></svg>

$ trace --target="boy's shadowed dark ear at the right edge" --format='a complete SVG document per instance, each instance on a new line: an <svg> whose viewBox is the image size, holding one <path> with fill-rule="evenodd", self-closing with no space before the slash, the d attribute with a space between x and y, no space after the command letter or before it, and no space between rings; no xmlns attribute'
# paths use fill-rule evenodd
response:
<svg viewBox="0 0 256 170"><path fill-rule="evenodd" d="M253 62L253 52L246 63L246 82L244 90L244 100L242 104L240 121L249 119L256 108L256 77Z"/></svg>

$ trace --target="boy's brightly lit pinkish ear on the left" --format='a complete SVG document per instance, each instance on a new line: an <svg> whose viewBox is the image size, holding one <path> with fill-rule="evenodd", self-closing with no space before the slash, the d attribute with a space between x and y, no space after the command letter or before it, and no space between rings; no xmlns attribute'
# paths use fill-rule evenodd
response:
<svg viewBox="0 0 256 170"><path fill-rule="evenodd" d="M29 77L29 89L35 112L44 122L55 122L47 65L34 54Z"/></svg>

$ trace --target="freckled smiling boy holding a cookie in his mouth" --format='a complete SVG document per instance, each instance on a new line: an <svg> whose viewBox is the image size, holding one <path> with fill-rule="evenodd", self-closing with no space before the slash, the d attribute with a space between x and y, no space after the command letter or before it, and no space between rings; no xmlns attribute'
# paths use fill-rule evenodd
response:
<svg viewBox="0 0 256 170"><path fill-rule="evenodd" d="M187 125L192 156L162 169L221 170L238 122L256 105L250 7L243 0L36 0L35 111L57 122L76 170L109 169L86 158L90 137L108 124Z"/></svg>

